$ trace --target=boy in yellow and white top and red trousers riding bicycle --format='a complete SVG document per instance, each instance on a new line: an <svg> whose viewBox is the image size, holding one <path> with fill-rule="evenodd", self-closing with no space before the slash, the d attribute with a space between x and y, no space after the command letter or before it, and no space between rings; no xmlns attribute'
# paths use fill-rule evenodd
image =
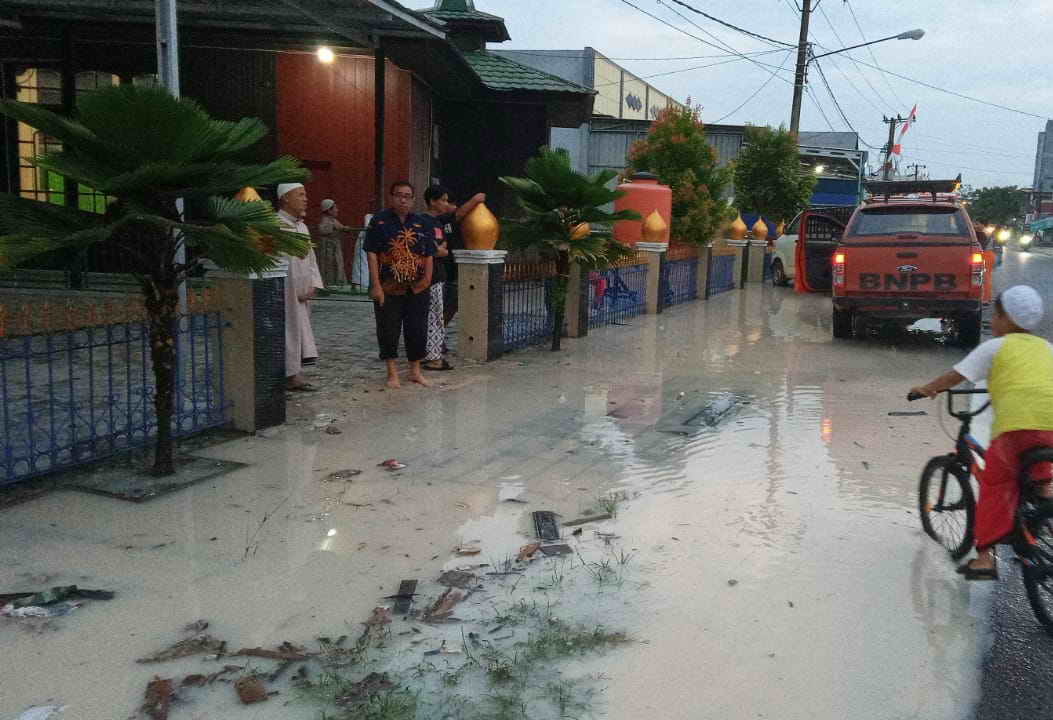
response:
<svg viewBox="0 0 1053 720"><path fill-rule="evenodd" d="M1014 285L998 296L991 317L994 338L927 385L911 392L935 397L960 382L987 381L994 408L991 445L980 475L976 503L976 558L958 567L967 580L998 577L993 548L1013 532L1019 502L1020 455L1033 447L1053 447L1053 345L1032 333L1042 321L1041 296L1028 285ZM1037 494L1053 509L1053 467L1032 466Z"/></svg>

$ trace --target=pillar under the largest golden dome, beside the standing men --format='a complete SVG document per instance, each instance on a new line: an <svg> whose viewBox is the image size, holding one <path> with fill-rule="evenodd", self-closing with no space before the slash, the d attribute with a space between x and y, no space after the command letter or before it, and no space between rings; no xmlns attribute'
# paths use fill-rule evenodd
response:
<svg viewBox="0 0 1053 720"><path fill-rule="evenodd" d="M504 258L508 251L455 249L457 352L469 360L494 360L504 351Z"/></svg>

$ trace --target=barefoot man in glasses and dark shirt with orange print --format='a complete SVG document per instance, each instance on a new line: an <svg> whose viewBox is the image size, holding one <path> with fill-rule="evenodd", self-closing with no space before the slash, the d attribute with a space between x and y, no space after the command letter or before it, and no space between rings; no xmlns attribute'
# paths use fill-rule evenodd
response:
<svg viewBox="0 0 1053 720"><path fill-rule="evenodd" d="M370 261L370 297L377 319L380 357L388 363L388 386L399 386L399 335L405 338L410 382L428 386L420 373L428 345L434 223L411 212L414 189L399 181L391 188L391 207L377 213L365 234Z"/></svg>

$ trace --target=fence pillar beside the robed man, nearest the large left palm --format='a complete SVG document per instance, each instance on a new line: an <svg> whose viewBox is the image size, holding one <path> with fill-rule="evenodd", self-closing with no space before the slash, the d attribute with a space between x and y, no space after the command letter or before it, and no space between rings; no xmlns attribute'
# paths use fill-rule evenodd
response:
<svg viewBox="0 0 1053 720"><path fill-rule="evenodd" d="M285 422L285 271L213 271L223 323L223 396L239 431Z"/></svg>

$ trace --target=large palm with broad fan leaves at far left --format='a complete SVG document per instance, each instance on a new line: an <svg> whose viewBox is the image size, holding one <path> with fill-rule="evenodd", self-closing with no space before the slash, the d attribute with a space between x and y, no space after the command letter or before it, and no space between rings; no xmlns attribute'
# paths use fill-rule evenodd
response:
<svg viewBox="0 0 1053 720"><path fill-rule="evenodd" d="M121 85L82 96L74 119L5 100L0 114L62 144L33 164L95 188L112 201L104 215L0 194L0 260L18 265L46 252L83 253L110 242L135 266L146 311L154 367L157 439L154 473L171 475L174 440L178 287L207 257L234 272L273 268L273 254L302 256L306 239L281 228L264 202L230 197L252 185L306 179L291 157L244 164L238 155L267 129L256 119L214 120L193 100L162 88ZM181 216L177 199L195 208ZM264 252L260 237L270 238ZM186 261L177 262L180 247ZM273 253L273 254L270 254Z"/></svg>

